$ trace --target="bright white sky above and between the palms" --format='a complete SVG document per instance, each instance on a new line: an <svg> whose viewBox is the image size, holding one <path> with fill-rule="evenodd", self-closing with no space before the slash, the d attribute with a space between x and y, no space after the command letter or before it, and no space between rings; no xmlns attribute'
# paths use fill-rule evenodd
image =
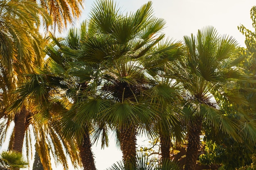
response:
<svg viewBox="0 0 256 170"><path fill-rule="evenodd" d="M93 2L94 0L85 1L84 13L79 21L88 18ZM148 0L116 0L116 2L121 7L121 11L130 12L136 11ZM233 36L244 47L245 38L238 31L237 26L243 24L252 30L250 9L256 5L254 0L152 0L152 2L155 16L166 20L166 28L163 32L169 38L182 40L184 35L195 34L198 29L211 25L218 33ZM141 139L138 143L141 143ZM121 151L116 148L114 138L109 148L101 150L99 144L93 146L92 150L98 170L109 168L122 157ZM53 169L58 170L62 167L53 167ZM73 169L70 165L70 170Z"/></svg>

